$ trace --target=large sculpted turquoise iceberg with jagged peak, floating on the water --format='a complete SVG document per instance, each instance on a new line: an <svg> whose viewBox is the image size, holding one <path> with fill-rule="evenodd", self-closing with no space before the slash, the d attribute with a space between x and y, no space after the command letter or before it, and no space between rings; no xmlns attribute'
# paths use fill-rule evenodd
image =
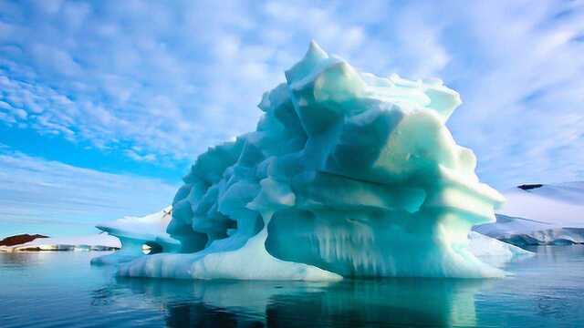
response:
<svg viewBox="0 0 584 328"><path fill-rule="evenodd" d="M437 79L360 73L311 43L262 98L254 132L208 149L184 177L167 232L183 253L121 275L266 280L496 277L468 248L503 197L478 181L445 123Z"/></svg>

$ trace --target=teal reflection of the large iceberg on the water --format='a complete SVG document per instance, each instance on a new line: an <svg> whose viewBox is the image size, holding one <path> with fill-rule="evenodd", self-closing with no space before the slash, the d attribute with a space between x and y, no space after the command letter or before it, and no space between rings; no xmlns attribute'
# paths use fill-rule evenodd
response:
<svg viewBox="0 0 584 328"><path fill-rule="evenodd" d="M485 283L489 281L186 282L119 278L108 288L128 289L128 299L135 302L136 295L141 295L152 306L162 307L171 327L473 326L474 294ZM106 299L109 294L116 292L99 292Z"/></svg>

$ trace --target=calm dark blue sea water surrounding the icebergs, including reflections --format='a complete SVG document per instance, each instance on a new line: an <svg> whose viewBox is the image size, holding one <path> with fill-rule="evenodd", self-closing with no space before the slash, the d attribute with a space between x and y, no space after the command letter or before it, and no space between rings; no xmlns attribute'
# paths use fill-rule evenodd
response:
<svg viewBox="0 0 584 328"><path fill-rule="evenodd" d="M104 252L0 253L0 327L584 327L584 246L531 251L505 279L335 283L121 279L89 265Z"/></svg>

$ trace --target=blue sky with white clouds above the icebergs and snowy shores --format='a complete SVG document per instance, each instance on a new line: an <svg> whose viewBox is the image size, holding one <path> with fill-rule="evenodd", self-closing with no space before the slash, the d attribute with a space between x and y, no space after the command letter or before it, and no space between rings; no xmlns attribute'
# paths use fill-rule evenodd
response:
<svg viewBox="0 0 584 328"><path fill-rule="evenodd" d="M0 1L0 237L161 209L310 39L459 91L495 188L584 179L581 1Z"/></svg>

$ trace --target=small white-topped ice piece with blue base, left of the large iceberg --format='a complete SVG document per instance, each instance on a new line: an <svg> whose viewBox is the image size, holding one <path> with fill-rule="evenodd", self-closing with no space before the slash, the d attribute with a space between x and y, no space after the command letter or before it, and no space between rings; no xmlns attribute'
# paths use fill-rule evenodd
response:
<svg viewBox="0 0 584 328"><path fill-rule="evenodd" d="M169 206L144 217L125 217L97 225L96 228L107 232L111 238L117 237L121 248L112 254L91 259L91 264L117 264L134 260L144 255L143 246L150 247L151 252L179 251L180 242L166 233L171 213L172 207Z"/></svg>

